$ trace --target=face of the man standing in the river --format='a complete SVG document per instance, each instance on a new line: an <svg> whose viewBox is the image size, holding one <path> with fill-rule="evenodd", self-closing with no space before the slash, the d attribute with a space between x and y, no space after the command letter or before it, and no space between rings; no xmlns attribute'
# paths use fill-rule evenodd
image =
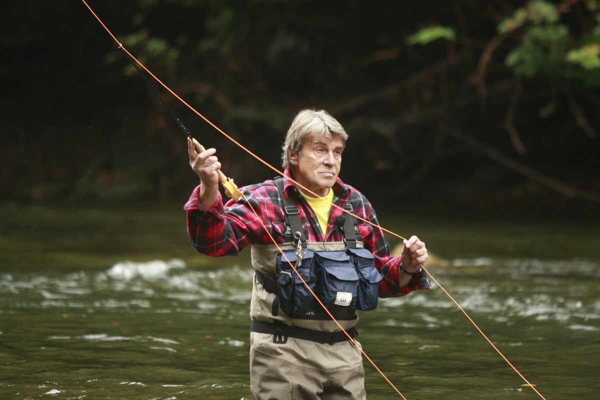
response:
<svg viewBox="0 0 600 400"><path fill-rule="evenodd" d="M294 179L319 196L326 196L340 173L343 151L344 143L335 134L331 139L307 139L299 154L290 155ZM302 188L301 190L306 193Z"/></svg>

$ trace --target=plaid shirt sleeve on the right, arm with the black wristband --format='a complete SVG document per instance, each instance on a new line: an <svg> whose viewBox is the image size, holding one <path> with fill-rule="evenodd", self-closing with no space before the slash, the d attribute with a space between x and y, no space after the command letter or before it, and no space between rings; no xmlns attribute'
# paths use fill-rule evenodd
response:
<svg viewBox="0 0 600 400"><path fill-rule="evenodd" d="M399 268L401 258L391 256L388 240L383 234L383 230L379 228L379 222L371 203L361 193L352 187L349 188L351 190L350 199L356 215L362 216L373 224L359 221L358 227L361 230L365 248L373 253L375 266L383 275L383 279L379 281L379 297L398 297L414 290L431 289L431 283L425 271L413 276L408 284L400 287L398 274L401 273Z"/></svg>

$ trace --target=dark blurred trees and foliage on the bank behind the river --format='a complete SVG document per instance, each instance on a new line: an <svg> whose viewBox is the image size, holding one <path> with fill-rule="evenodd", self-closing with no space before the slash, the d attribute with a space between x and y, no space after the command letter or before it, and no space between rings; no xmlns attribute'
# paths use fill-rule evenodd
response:
<svg viewBox="0 0 600 400"><path fill-rule="evenodd" d="M293 116L350 134L380 206L600 203L598 0L89 0L124 46L275 167ZM187 199L185 136L80 1L0 4L0 199ZM163 90L240 185L272 178Z"/></svg>

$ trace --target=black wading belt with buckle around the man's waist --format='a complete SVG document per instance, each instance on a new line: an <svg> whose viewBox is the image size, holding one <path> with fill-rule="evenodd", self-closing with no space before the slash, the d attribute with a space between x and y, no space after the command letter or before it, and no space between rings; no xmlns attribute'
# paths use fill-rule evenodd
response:
<svg viewBox="0 0 600 400"><path fill-rule="evenodd" d="M321 344L336 344L349 340L346 333L342 331L324 332L322 330L306 329L281 323L272 324L263 321L251 321L250 332L268 333L269 335L273 335L273 342L278 344L286 343L287 338L304 339ZM347 329L346 332L353 339L358 336L358 331L353 327Z"/></svg>

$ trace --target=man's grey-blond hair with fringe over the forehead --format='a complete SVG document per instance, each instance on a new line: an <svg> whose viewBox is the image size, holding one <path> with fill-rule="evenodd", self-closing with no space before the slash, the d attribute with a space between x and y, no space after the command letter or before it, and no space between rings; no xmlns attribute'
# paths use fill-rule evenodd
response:
<svg viewBox="0 0 600 400"><path fill-rule="evenodd" d="M334 134L339 136L343 145L346 146L348 134L344 131L340 122L325 110L302 110L292 121L292 125L287 130L286 142L281 147L283 149L281 155L283 167L287 168L292 165L290 155L300 154L307 139L319 137L331 139Z"/></svg>

